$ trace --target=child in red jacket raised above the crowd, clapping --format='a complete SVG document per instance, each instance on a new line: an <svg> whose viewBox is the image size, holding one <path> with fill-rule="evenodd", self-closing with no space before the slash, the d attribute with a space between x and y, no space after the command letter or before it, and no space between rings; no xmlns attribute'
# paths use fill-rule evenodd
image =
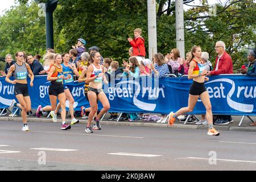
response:
<svg viewBox="0 0 256 182"><path fill-rule="evenodd" d="M145 52L145 40L141 36L141 28L136 28L134 30L134 39L128 38L131 46L133 46L133 55L134 56L146 56Z"/></svg>

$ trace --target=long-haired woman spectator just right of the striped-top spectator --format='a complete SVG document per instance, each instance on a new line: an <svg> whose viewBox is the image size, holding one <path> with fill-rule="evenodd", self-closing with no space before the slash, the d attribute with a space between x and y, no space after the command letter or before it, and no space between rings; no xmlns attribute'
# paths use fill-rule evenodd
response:
<svg viewBox="0 0 256 182"><path fill-rule="evenodd" d="M168 64L168 68L171 69L170 73L179 76L179 67L180 67L180 63L181 61L183 62L183 60L180 57L180 51L177 48L172 49L171 54L166 56L166 61ZM171 68L170 68L171 67Z"/></svg>

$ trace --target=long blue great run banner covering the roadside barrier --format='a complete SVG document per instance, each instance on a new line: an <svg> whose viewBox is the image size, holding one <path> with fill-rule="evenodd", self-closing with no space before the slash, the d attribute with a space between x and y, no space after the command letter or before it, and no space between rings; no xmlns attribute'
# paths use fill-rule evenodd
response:
<svg viewBox="0 0 256 182"><path fill-rule="evenodd" d="M256 115L256 78L243 75L211 76L205 82L213 114ZM29 81L28 81L29 83ZM188 105L188 91L192 80L187 77L154 78L143 76L138 79L110 81L104 85L104 92L110 102L111 112L118 113L162 113L177 111ZM32 109L38 105L49 105L46 76L36 76L34 86L28 86ZM75 82L72 90L75 110L89 107L84 95L84 83ZM14 85L0 78L0 107L7 107L14 99ZM68 101L66 106L68 107ZM99 102L99 109L102 108ZM193 114L205 114L201 100L197 101Z"/></svg>

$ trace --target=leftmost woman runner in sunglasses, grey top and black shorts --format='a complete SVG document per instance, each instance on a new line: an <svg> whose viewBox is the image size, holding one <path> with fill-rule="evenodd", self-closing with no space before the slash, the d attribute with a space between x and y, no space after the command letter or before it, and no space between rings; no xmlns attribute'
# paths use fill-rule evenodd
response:
<svg viewBox="0 0 256 182"><path fill-rule="evenodd" d="M14 93L19 104L17 104L16 101L13 100L11 102L10 109L12 110L16 106L22 109L22 131L29 131L30 129L27 125L27 111L31 110L31 100L28 94L27 75L30 75L30 86L33 86L34 74L31 71L30 66L25 63L23 52L16 52L15 59L16 63L11 65L5 81L15 85ZM14 76L13 81L10 80L10 76L12 75Z"/></svg>

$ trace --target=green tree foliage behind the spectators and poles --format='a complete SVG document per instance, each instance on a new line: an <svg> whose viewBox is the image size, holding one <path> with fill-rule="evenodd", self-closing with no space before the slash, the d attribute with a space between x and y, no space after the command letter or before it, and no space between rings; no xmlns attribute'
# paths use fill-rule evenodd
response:
<svg viewBox="0 0 256 182"><path fill-rule="evenodd" d="M193 0L183 0L183 3ZM184 11L185 53L194 45L201 46L215 63L214 44L226 43L226 51L232 56L234 70L246 63L246 52L241 48L253 45L256 40L253 0L225 0L217 5L216 16L209 16L207 0ZM38 16L38 6L33 1L19 0L0 17L0 56L24 49L43 54L46 48L44 17ZM38 0L37 3L47 2ZM176 47L175 1L156 1L158 52L164 55ZM225 5L225 6L224 6ZM67 52L78 38L84 38L86 48L98 46L104 57L119 62L127 59L130 47L127 38L133 38L133 30L142 28L148 51L147 0L59 0L54 13L55 49ZM147 57L147 56L146 56Z"/></svg>

